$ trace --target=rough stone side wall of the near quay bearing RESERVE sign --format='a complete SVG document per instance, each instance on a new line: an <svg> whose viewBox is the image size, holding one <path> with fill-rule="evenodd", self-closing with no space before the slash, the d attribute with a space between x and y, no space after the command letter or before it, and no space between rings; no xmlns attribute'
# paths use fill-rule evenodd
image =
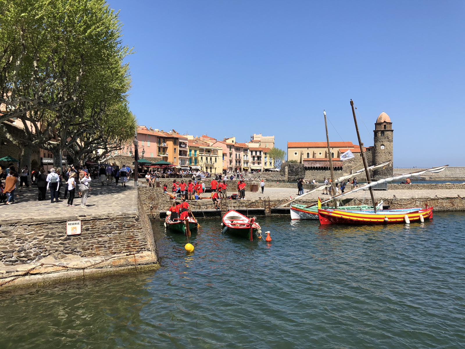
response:
<svg viewBox="0 0 465 349"><path fill-rule="evenodd" d="M127 214L1 220L0 290L158 268L152 226L137 191L130 195L137 209ZM67 236L74 220L82 232Z"/></svg>

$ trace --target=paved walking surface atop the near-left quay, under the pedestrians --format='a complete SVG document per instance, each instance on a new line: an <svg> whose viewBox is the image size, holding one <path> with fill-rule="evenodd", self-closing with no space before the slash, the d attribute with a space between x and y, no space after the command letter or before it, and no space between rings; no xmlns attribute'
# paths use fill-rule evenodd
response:
<svg viewBox="0 0 465 349"><path fill-rule="evenodd" d="M90 184L92 191L87 198L86 208L80 207L81 198L77 196L77 193L73 202L76 206L66 206L68 200L63 199L64 187L61 188L61 200L56 203L50 202L50 191L47 191L45 201L38 201L37 187L32 186L31 192L23 188L22 193L18 193L16 189L13 205L0 204L0 220L56 219L72 215L99 216L137 212L137 191L133 181L127 182L126 188L122 188L121 185L116 187L114 182L109 186L102 186L100 181L91 181Z"/></svg>

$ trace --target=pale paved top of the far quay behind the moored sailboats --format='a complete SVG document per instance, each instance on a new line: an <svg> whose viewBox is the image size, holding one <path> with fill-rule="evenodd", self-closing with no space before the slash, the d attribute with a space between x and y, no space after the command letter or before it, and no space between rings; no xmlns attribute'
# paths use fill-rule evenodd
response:
<svg viewBox="0 0 465 349"><path fill-rule="evenodd" d="M304 193L306 193L307 190L304 190ZM237 192L232 192L228 191L228 195L231 195L233 193ZM322 195L322 191L316 191L312 194L304 196L302 199L318 199L320 198L328 198L329 195ZM396 195L396 198L402 199L402 198L420 198L420 197L431 197L435 198L436 195L438 197L457 197L457 195L460 195L461 197L465 197L465 189L444 189L444 190L375 190L375 198L376 199L392 199L393 195ZM207 193L209 194L209 193ZM259 188L258 193L252 193L250 191L246 191L246 199L259 199L259 197L270 197L270 200L273 199L284 199L284 198L289 198L289 196L292 196L292 199L294 199L297 196L297 187L295 189L292 188L266 188L265 187L265 192L264 194L261 193L261 189ZM367 199L370 199L370 191L368 190L360 190L355 193L347 194L344 196L345 198L363 198L366 197Z"/></svg>

